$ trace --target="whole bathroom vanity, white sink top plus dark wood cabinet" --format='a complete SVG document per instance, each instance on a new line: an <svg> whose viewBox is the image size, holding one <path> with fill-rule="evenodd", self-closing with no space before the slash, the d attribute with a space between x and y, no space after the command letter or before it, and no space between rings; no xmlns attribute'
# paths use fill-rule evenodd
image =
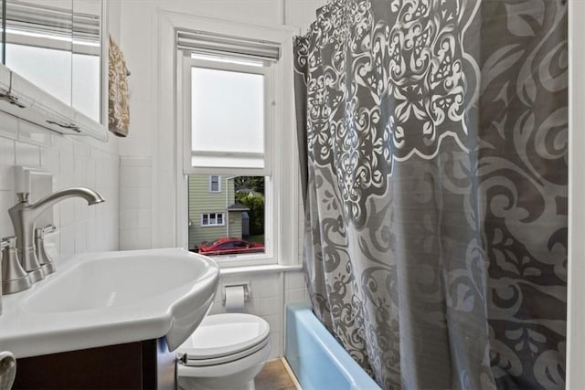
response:
<svg viewBox="0 0 585 390"><path fill-rule="evenodd" d="M176 353L203 320L218 265L181 248L101 252L3 297L14 388L175 388Z"/></svg>

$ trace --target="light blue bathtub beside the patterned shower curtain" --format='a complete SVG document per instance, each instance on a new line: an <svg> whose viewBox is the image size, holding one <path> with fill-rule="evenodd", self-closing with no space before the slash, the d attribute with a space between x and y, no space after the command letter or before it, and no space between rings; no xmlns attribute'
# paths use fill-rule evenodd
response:
<svg viewBox="0 0 585 390"><path fill-rule="evenodd" d="M284 357L303 390L379 390L335 340L309 302L286 305Z"/></svg>

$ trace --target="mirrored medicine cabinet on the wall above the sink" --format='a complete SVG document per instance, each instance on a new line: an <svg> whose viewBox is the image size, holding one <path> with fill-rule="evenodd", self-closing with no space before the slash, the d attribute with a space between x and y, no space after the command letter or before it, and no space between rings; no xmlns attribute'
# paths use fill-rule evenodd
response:
<svg viewBox="0 0 585 390"><path fill-rule="evenodd" d="M82 128L90 126L90 135L107 139L107 97L104 96L107 91L107 58L103 38L106 31L105 2L0 1L2 60L5 67L12 71L12 76L16 74L48 92L59 103L74 109L67 115L69 120L57 121L57 131L63 127L78 127L81 131L76 132L83 134ZM47 99L43 101L47 103ZM16 116L20 116L19 113L16 111ZM39 124L45 125L46 122ZM98 128L96 123L101 126Z"/></svg>

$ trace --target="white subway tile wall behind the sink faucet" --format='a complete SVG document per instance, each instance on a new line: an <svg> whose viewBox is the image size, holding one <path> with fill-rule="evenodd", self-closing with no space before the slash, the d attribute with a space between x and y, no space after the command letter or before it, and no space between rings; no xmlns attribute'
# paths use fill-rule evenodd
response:
<svg viewBox="0 0 585 390"><path fill-rule="evenodd" d="M58 227L58 253L118 248L119 165L118 142L62 136L0 112L0 237L14 234L8 208L16 204L14 165L26 165L53 175L55 190L88 186L106 202L88 206L69 198L53 207Z"/></svg>

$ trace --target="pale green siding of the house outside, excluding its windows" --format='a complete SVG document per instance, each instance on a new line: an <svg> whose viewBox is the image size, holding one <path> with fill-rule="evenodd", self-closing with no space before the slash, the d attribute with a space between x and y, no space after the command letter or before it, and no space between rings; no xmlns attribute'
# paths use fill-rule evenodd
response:
<svg viewBox="0 0 585 390"><path fill-rule="evenodd" d="M209 176L189 176L188 212L189 248L195 248L204 241L215 241L220 237L241 238L241 212L228 213L227 207L234 204L234 181L228 180L228 196L226 197L226 178L220 176L221 191L209 192ZM223 226L201 226L201 216L209 213L223 213ZM229 226L228 226L229 224Z"/></svg>

